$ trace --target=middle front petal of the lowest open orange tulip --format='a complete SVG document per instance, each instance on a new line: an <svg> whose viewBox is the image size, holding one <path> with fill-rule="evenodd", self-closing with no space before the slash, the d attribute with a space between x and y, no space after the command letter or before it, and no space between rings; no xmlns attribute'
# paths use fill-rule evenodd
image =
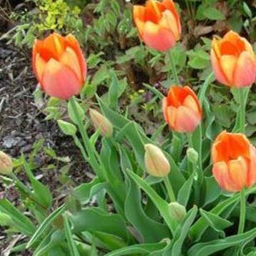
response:
<svg viewBox="0 0 256 256"><path fill-rule="evenodd" d="M234 182L237 188L241 190L245 186L247 179L248 167L245 158L238 157L235 160L230 160L227 165L232 182Z"/></svg>

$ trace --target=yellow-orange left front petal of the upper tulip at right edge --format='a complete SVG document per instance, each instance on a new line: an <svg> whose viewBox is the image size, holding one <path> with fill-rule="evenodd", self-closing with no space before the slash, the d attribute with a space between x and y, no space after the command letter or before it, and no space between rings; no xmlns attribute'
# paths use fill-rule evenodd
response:
<svg viewBox="0 0 256 256"><path fill-rule="evenodd" d="M223 55L220 57L220 67L227 77L229 85L234 85L234 72L237 64L237 57L232 55Z"/></svg>

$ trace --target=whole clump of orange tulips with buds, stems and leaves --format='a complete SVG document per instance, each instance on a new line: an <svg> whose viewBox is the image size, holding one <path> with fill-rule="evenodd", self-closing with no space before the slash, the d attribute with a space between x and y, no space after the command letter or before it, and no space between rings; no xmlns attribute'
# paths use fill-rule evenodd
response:
<svg viewBox="0 0 256 256"><path fill-rule="evenodd" d="M56 122L74 139L95 177L70 187L66 200L54 205L26 158L21 164L30 187L1 152L2 178L14 182L29 214L0 200L0 225L26 236L14 251L29 249L37 256L255 255L256 149L245 137L247 97L256 74L252 46L233 31L214 38L213 72L196 94L180 84L175 67L172 47L181 25L172 0L134 6L133 16L144 44L169 57L173 82L167 95L157 92L166 123L148 137L119 111L117 83L108 97L95 98L94 107L80 100L87 62L77 39L54 33L36 40L32 62L39 87L67 102L69 118ZM211 140L206 92L214 76L230 87L239 108L232 131L222 130Z"/></svg>

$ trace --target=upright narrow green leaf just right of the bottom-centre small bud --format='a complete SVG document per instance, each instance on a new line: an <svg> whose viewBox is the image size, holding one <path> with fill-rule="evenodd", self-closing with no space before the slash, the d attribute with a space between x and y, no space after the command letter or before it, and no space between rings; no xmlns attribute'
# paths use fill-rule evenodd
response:
<svg viewBox="0 0 256 256"><path fill-rule="evenodd" d="M196 216L197 206L194 206L189 210L189 212L187 212L186 218L179 227L177 227L172 239L172 255L182 255L182 245L187 237L187 233L189 232L189 227L194 222Z"/></svg>

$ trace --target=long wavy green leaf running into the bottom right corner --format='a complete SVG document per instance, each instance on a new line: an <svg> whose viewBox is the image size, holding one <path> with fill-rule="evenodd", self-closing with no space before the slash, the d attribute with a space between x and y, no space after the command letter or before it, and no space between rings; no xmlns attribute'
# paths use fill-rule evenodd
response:
<svg viewBox="0 0 256 256"><path fill-rule="evenodd" d="M256 237L256 227L250 231L247 231L241 235L232 235L221 240L213 240L211 242L200 242L192 246L189 249L189 256L207 256L212 255L215 252L220 252L229 247L234 247L244 242L249 242Z"/></svg>

